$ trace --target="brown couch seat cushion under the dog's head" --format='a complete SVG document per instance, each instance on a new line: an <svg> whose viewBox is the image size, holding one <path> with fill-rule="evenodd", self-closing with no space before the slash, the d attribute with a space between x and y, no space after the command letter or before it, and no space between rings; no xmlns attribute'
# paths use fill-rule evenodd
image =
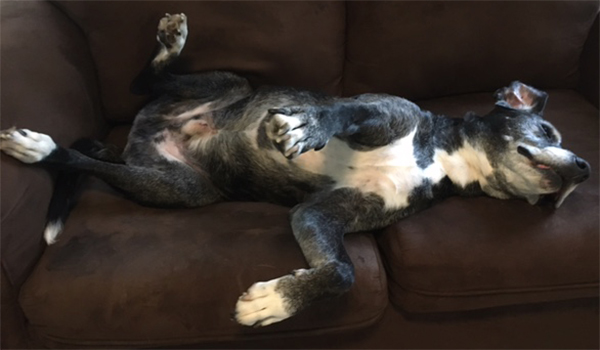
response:
<svg viewBox="0 0 600 350"><path fill-rule="evenodd" d="M592 177L554 210L520 200L448 199L379 237L390 298L409 312L598 297L598 110L572 91L549 91L545 117ZM435 113L485 113L489 94L420 103Z"/></svg>

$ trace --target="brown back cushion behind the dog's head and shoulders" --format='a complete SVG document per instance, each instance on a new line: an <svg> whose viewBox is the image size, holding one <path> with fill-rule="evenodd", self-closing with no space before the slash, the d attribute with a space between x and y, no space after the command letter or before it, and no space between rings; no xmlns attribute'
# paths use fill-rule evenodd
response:
<svg viewBox="0 0 600 350"><path fill-rule="evenodd" d="M597 1L348 2L344 94L572 88L597 13Z"/></svg>

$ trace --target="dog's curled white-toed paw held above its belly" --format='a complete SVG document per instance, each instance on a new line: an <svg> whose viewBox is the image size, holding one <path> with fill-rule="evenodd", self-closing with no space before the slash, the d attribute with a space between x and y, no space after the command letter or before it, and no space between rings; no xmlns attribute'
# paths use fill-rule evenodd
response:
<svg viewBox="0 0 600 350"><path fill-rule="evenodd" d="M320 150L331 135L319 124L317 107L285 107L269 109L267 136L288 159Z"/></svg>

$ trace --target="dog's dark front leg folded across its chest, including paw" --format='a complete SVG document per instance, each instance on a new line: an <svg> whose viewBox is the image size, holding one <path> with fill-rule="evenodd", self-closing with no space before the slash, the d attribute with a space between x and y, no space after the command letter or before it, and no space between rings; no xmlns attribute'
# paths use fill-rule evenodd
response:
<svg viewBox="0 0 600 350"><path fill-rule="evenodd" d="M385 146L408 135L423 111L390 95L365 94L314 105L271 108L267 136L289 159L319 150L334 136L357 147Z"/></svg>

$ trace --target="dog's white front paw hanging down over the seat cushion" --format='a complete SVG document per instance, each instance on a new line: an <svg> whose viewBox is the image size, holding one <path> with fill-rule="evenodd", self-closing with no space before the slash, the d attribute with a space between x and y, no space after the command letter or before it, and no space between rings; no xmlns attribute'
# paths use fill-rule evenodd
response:
<svg viewBox="0 0 600 350"><path fill-rule="evenodd" d="M235 305L235 320L244 326L261 327L292 316L277 283L286 277L257 282L242 294Z"/></svg>

